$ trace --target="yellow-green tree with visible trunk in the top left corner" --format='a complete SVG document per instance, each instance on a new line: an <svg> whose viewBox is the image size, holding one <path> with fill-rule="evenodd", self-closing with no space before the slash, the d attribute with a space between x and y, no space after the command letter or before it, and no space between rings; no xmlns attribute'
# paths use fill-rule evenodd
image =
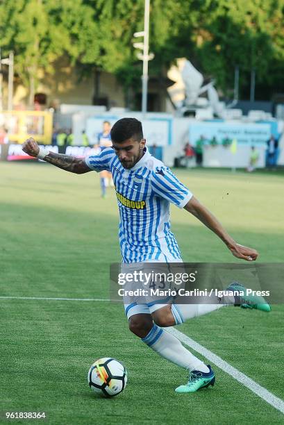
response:
<svg viewBox="0 0 284 425"><path fill-rule="evenodd" d="M80 0L6 0L1 4L2 54L14 51L15 72L28 88L30 106L38 81L55 72L53 64L64 53L74 64L88 45L97 59L92 12Z"/></svg>

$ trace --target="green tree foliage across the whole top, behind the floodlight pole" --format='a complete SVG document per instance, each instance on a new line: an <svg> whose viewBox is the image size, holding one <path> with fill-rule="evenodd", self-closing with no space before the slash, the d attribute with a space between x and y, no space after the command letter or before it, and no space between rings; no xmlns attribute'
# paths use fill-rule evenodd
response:
<svg viewBox="0 0 284 425"><path fill-rule="evenodd" d="M236 65L241 81L254 68L257 83L273 88L284 71L283 8L284 0L151 0L149 73L186 57L225 93ZM26 85L36 85L39 69L54 72L62 55L89 74L99 67L117 75L125 87L140 81L133 33L143 30L144 0L6 0L0 20L2 52L15 52Z"/></svg>

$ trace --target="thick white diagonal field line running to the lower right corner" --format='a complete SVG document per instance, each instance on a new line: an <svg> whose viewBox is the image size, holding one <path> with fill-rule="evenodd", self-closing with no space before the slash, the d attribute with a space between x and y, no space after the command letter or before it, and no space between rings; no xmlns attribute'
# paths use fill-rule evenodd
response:
<svg viewBox="0 0 284 425"><path fill-rule="evenodd" d="M202 354L202 356L206 357L208 360L210 360L210 362L214 363L217 367L219 367L219 369L222 369L228 375L231 375L236 381L249 388L249 390L258 395L260 399L265 400L271 406L284 413L284 401L274 396L272 392L267 391L264 387L249 378L249 376L235 369L235 367L229 365L227 362L225 362L225 360L222 360L221 357L216 356L216 354L212 353L212 351L206 349L198 342L195 342L192 340L192 338L189 338L184 333L177 331L175 328L167 328L167 331L176 336L176 338L183 342L183 344L194 349L194 351L197 351L197 353Z"/></svg>

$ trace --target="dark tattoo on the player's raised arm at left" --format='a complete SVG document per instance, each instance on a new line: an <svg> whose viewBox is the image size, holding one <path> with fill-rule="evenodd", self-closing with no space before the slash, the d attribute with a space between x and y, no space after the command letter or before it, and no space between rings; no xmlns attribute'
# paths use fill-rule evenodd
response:
<svg viewBox="0 0 284 425"><path fill-rule="evenodd" d="M47 156L44 156L44 161L71 173L84 174L92 171L83 158L76 158L63 153L49 152Z"/></svg>

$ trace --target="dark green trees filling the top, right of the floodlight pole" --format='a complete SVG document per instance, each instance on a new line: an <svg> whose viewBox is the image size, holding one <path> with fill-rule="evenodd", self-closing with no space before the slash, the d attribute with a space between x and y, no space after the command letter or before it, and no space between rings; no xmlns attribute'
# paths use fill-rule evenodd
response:
<svg viewBox="0 0 284 425"><path fill-rule="evenodd" d="M202 74L214 78L230 96L234 69L240 67L240 90L249 93L256 70L261 96L269 98L283 85L283 0L151 1L151 69L166 69L185 57ZM263 89L266 88L266 92Z"/></svg>

